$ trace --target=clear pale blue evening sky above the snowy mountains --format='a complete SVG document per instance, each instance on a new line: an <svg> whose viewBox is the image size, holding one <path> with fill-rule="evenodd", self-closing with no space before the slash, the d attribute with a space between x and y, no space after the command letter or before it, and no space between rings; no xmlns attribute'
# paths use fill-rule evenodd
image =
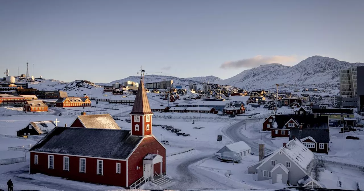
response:
<svg viewBox="0 0 364 191"><path fill-rule="evenodd" d="M1 0L0 72L222 79L314 55L364 62L363 0ZM32 65L34 64L34 71ZM5 75L3 75L5 76Z"/></svg>

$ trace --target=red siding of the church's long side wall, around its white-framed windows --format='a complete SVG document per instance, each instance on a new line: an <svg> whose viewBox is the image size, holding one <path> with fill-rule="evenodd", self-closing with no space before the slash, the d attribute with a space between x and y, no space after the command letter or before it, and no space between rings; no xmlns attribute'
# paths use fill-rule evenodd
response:
<svg viewBox="0 0 364 191"><path fill-rule="evenodd" d="M38 164L34 164L34 155L38 155ZM97 175L97 159L95 158L70 156L70 171L64 171L63 156L66 155L52 155L54 155L54 169L48 169L48 154L31 152L30 173L41 173L81 182L126 187L126 161L101 159L104 161L104 171L103 175ZM86 173L79 172L79 158L86 158ZM121 174L116 174L116 163L121 163Z"/></svg>

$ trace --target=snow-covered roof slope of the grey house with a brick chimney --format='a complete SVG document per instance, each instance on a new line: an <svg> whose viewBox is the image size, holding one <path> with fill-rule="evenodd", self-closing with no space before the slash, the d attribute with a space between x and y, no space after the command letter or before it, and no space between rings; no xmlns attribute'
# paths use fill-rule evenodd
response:
<svg viewBox="0 0 364 191"><path fill-rule="evenodd" d="M299 140L290 140L281 150L296 162L303 170L307 170L310 162L314 159L313 152L306 148Z"/></svg>

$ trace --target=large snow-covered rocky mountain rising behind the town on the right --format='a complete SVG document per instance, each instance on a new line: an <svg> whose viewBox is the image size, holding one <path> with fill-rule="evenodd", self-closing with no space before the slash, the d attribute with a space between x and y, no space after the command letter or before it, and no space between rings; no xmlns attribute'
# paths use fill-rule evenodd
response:
<svg viewBox="0 0 364 191"><path fill-rule="evenodd" d="M236 76L216 81L239 88L273 89L275 84L296 84L285 89L321 88L338 91L340 69L364 66L363 63L348 63L329 57L312 56L290 67L281 64L265 64L244 70ZM281 88L283 90L284 88Z"/></svg>

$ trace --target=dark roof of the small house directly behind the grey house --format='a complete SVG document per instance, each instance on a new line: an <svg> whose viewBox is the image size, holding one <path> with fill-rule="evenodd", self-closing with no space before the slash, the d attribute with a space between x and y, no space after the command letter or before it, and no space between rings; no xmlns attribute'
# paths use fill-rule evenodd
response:
<svg viewBox="0 0 364 191"><path fill-rule="evenodd" d="M290 130L289 140L296 136L297 139L303 139L308 136L312 137L317 143L329 143L330 142L330 130L329 129L314 129L314 128L302 128L300 135L298 128Z"/></svg>

